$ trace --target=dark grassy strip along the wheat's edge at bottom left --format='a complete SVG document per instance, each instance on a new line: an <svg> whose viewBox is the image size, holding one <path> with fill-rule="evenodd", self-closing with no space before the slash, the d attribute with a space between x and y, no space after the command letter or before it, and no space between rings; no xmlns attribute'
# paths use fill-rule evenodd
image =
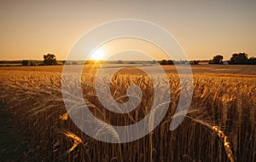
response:
<svg viewBox="0 0 256 162"><path fill-rule="evenodd" d="M1 161L26 161L26 147L21 143L19 133L7 107L0 101L0 159Z"/></svg>

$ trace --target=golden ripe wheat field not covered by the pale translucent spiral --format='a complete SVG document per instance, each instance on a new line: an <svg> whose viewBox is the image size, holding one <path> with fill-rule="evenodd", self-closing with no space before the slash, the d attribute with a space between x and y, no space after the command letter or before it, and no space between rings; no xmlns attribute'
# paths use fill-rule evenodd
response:
<svg viewBox="0 0 256 162"><path fill-rule="evenodd" d="M61 66L1 68L0 101L24 136L27 161L256 161L255 67L192 67L194 94L189 113L172 131L169 125L180 84L173 67L164 69L171 88L168 112L152 132L134 142L99 142L79 130L62 99ZM84 72L81 79L84 101L96 118L108 124L134 124L152 106L152 82L135 70L119 72L111 80L113 98L119 102L127 101L131 84L143 92L139 106L127 114L102 107L93 89L93 74Z"/></svg>

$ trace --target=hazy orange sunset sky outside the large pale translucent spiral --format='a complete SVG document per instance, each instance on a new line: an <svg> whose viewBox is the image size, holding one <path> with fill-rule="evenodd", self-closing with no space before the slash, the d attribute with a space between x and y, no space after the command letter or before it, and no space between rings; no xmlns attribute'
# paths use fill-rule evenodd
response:
<svg viewBox="0 0 256 162"><path fill-rule="evenodd" d="M148 20L165 28L189 60L209 60L214 55L229 60L236 52L256 56L254 0L1 0L0 60L43 60L47 53L65 60L84 33L119 19Z"/></svg>

